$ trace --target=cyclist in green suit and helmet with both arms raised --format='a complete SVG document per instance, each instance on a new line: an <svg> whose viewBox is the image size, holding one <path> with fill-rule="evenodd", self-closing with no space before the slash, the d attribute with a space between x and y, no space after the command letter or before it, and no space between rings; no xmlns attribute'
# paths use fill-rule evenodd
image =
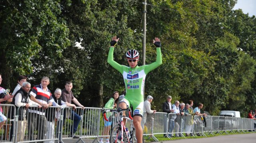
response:
<svg viewBox="0 0 256 143"><path fill-rule="evenodd" d="M126 96L120 102L119 107L126 109L127 105L129 107L130 105L133 106L133 124L136 129L136 138L138 143L142 143L143 132L141 121L143 115L144 82L146 74L162 64L160 39L153 39L153 44L156 46L156 62L150 65L143 65L141 67L138 66L139 53L136 50L128 50L126 53L126 59L129 67L120 65L114 61L114 46L117 44L119 38L117 39L116 36L114 36L111 40L110 50L108 53L108 63L123 75L126 87Z"/></svg>

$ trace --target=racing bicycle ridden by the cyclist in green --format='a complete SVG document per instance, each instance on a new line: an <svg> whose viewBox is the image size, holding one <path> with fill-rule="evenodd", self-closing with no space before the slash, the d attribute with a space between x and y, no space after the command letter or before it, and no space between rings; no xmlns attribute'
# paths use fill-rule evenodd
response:
<svg viewBox="0 0 256 143"><path fill-rule="evenodd" d="M118 114L119 118L118 118L118 124L115 125L110 133L110 143L136 143L136 137L135 137L135 128L133 126L133 123L130 127L130 138L129 138L129 134L126 133L126 127L124 125L124 121L123 119L126 119L126 121L132 121L132 116L130 114L131 109L127 108L126 109L122 109L122 108L118 108L118 109L111 109L111 110L106 110L106 109L102 109L103 111L103 116L104 119L106 121L108 121L108 119L106 118L106 112L114 112L116 114ZM124 111L128 111L129 113L129 118L127 117L123 117L123 112Z"/></svg>

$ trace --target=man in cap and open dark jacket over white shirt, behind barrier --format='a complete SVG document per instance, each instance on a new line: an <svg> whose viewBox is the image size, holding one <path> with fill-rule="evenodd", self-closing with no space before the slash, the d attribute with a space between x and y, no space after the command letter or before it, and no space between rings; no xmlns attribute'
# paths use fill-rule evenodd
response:
<svg viewBox="0 0 256 143"><path fill-rule="evenodd" d="M163 103L163 112L165 113L171 113L174 110L172 109L172 96L167 96L167 101ZM167 116L168 118L168 116ZM169 129L168 132L171 133L174 128L174 120L169 119ZM166 125L164 125L164 132L166 132ZM169 134L169 136L172 136L172 134ZM164 134L164 137L166 137L166 134Z"/></svg>

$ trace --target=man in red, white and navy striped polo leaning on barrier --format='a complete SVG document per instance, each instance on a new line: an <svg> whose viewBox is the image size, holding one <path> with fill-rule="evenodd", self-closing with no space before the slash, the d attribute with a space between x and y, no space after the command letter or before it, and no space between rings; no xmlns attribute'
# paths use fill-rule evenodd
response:
<svg viewBox="0 0 256 143"><path fill-rule="evenodd" d="M36 85L32 88L32 91L30 92L30 99L39 105L42 106L42 108L33 108L28 109L28 131L30 135L30 141L36 140L34 138L34 133L36 133L35 130L38 132L37 139L45 139L46 134L46 117L44 110L47 109L49 106L52 106L52 94L50 90L47 88L47 86L50 84L50 79L46 76L42 77L41 84ZM40 141L38 143L43 143L43 141Z"/></svg>

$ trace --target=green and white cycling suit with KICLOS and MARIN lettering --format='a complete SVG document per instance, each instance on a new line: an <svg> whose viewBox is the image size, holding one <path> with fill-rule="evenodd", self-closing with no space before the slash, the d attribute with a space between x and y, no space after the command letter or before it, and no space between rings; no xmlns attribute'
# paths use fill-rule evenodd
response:
<svg viewBox="0 0 256 143"><path fill-rule="evenodd" d="M151 63L150 65L143 65L141 67L137 65L134 68L118 64L113 59L113 53L114 47L110 47L108 63L123 75L126 88L126 96L124 100L128 106L131 104L135 107L133 111L134 115L142 115L146 74L162 64L161 49L160 47L156 48L156 62Z"/></svg>

